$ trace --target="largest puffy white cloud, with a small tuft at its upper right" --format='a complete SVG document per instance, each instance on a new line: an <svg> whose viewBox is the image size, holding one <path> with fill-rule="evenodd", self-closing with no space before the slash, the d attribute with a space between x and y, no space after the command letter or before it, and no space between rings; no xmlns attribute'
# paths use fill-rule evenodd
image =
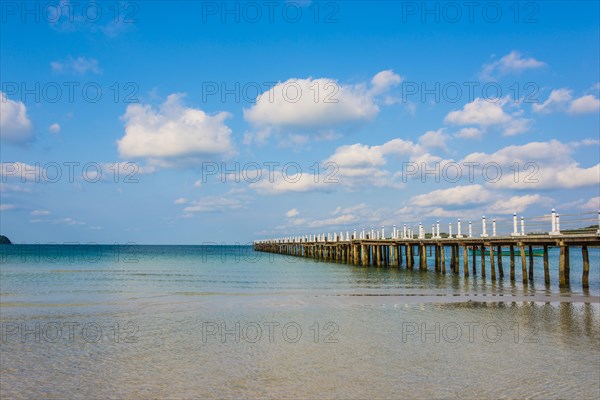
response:
<svg viewBox="0 0 600 400"><path fill-rule="evenodd" d="M377 95L401 82L391 70L373 77L370 85L340 84L331 78L292 78L279 82L244 109L244 118L257 130L245 141L266 141L281 129L316 131L372 120L379 113Z"/></svg>

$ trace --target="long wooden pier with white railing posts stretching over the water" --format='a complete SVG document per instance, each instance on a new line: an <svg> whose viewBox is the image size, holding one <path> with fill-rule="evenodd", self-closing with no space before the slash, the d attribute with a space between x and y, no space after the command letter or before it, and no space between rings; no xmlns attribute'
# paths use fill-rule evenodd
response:
<svg viewBox="0 0 600 400"><path fill-rule="evenodd" d="M593 214L593 217L589 215ZM570 224L582 222L600 222L600 212L570 215ZM500 221L500 223L498 223ZM512 222L512 232L501 232L507 223ZM534 228L547 223L547 232L539 229L525 230L526 222ZM553 209L549 215L529 218L527 221L516 213L510 220L492 220L491 231L488 222L481 219L478 235L474 233L469 221L468 230L463 235L461 220L457 221L457 233L452 233L452 223L448 232L440 232L439 221L431 227L431 233L425 233L423 224L413 227L404 224L402 229L393 227L386 235L385 227L357 233L346 231L328 234L310 234L277 239L258 240L254 250L298 257L309 257L325 261L342 262L364 267L406 268L408 270L428 270L427 254L434 259L434 271L437 273L462 273L465 277L479 275L492 281L503 279L509 274L511 281L519 275L523 284L534 282L533 259L542 256L544 263L544 283L550 284L549 253L551 247L559 252L558 283L561 288L570 287L570 253L579 248L582 254L581 282L583 288L589 287L589 247L600 247L600 223L598 226L561 231L560 216ZM519 229L520 228L520 229ZM462 255L462 257L460 257ZM509 257L509 265L503 265L503 257ZM480 259L479 264L477 259ZM462 261L462 262L461 262ZM486 264L486 261L488 264ZM462 264L462 265L461 265ZM488 266L489 265L489 266ZM479 266L479 270L478 270ZM599 266L595 266L599 267Z"/></svg>

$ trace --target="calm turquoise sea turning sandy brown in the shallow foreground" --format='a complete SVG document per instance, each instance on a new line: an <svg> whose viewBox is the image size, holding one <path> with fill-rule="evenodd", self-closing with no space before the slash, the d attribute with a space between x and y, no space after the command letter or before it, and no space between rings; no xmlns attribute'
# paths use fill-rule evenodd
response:
<svg viewBox="0 0 600 400"><path fill-rule="evenodd" d="M245 246L0 257L2 398L600 396L598 249L585 291L579 249L569 290L556 249L549 286L540 257L525 286L507 257L496 282Z"/></svg>

